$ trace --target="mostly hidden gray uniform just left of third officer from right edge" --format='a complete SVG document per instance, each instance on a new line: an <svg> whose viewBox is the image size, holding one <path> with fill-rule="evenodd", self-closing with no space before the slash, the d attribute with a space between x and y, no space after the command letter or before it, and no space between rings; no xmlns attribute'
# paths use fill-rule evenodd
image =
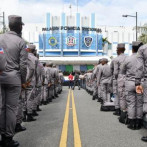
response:
<svg viewBox="0 0 147 147"><path fill-rule="evenodd" d="M112 76L112 87L113 87L113 94L114 94L114 97L115 97L115 109L119 109L120 108L120 104L119 104L119 99L118 99L118 91L117 91L117 80L115 78L115 75L114 75L114 64L115 64L115 60L117 60L117 57L114 58L112 61L111 61L111 64L110 64L110 70L111 70L111 74L113 75Z"/></svg>

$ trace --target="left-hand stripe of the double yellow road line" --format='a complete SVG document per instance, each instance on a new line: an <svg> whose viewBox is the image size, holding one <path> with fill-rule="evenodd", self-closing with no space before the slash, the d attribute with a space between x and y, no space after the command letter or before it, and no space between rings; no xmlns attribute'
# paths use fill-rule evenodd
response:
<svg viewBox="0 0 147 147"><path fill-rule="evenodd" d="M70 90L69 90L69 93L68 93L64 123L63 123L63 129L62 129L59 147L66 147L66 145L67 145L68 121L69 121L69 104L70 104Z"/></svg>

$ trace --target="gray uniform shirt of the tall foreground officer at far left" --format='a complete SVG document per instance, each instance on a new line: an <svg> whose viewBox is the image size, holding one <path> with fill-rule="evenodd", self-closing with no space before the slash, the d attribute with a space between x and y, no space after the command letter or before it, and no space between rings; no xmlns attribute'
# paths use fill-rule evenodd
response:
<svg viewBox="0 0 147 147"><path fill-rule="evenodd" d="M3 84L20 85L26 83L27 59L25 41L15 32L0 35L0 47L6 53L7 66L0 75Z"/></svg>

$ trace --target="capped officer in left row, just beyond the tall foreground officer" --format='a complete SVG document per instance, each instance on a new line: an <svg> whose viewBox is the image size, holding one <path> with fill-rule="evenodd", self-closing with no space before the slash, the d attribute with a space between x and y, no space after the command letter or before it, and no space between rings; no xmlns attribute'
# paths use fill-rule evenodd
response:
<svg viewBox="0 0 147 147"><path fill-rule="evenodd" d="M25 91L26 97L26 114L24 113L24 117L27 117L27 121L35 121L33 118L35 113L33 111L33 107L36 108L36 100L35 100L35 88L37 83L37 66L38 59L34 56L36 46L33 44L29 44L27 51L28 55L28 67L27 67L27 88ZM25 119L24 119L25 120Z"/></svg>

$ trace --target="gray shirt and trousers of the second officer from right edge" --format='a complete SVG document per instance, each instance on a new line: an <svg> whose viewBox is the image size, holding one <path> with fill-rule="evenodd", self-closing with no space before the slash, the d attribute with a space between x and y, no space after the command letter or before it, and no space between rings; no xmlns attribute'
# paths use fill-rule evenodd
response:
<svg viewBox="0 0 147 147"><path fill-rule="evenodd" d="M143 116L143 99L142 94L136 93L135 73L137 54L134 53L126 59L123 64L122 74L126 75L125 92L129 119L142 119Z"/></svg>

